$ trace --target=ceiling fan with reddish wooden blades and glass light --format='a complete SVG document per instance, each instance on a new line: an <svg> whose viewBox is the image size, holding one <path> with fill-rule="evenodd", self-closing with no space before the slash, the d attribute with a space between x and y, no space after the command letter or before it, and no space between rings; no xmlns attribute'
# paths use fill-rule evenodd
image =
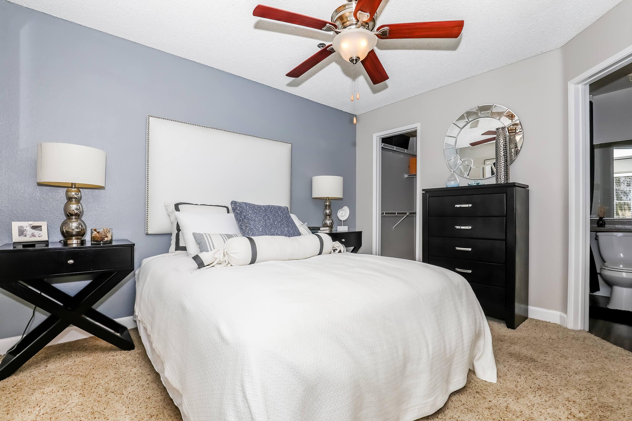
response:
<svg viewBox="0 0 632 421"><path fill-rule="evenodd" d="M377 39L458 38L463 30L462 20L392 23L375 28L375 11L382 0L347 0L347 2L334 10L331 21L262 4L255 8L252 12L253 16L337 34L332 44L321 44L322 47L316 54L289 71L286 76L298 78L337 51L345 61L352 64L361 62L372 83L377 85L389 78L374 51Z"/></svg>

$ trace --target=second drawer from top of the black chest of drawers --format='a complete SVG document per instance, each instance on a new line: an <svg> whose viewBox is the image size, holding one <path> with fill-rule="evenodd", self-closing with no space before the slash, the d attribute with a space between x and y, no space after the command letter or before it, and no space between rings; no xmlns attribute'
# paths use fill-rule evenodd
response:
<svg viewBox="0 0 632 421"><path fill-rule="evenodd" d="M461 218L431 216L428 235L432 237L505 239L505 218L494 216L464 216Z"/></svg>

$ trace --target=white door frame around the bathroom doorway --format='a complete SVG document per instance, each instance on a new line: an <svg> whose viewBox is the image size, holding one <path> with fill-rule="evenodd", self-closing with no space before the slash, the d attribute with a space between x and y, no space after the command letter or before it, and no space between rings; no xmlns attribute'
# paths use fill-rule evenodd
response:
<svg viewBox="0 0 632 421"><path fill-rule="evenodd" d="M632 47L568 83L568 328L588 330L590 83L632 62Z"/></svg>

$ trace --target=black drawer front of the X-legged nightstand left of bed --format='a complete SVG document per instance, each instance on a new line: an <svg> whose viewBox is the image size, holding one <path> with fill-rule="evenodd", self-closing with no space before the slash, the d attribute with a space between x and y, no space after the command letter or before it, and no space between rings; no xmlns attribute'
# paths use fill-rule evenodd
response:
<svg viewBox="0 0 632 421"><path fill-rule="evenodd" d="M132 247L33 250L0 254L0 278L72 275L133 267Z"/></svg>

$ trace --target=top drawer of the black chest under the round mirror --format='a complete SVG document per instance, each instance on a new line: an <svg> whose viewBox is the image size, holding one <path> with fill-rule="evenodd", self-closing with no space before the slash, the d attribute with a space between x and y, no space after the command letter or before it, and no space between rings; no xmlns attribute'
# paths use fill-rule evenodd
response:
<svg viewBox="0 0 632 421"><path fill-rule="evenodd" d="M468 194L428 198L428 216L504 216L505 194Z"/></svg>

